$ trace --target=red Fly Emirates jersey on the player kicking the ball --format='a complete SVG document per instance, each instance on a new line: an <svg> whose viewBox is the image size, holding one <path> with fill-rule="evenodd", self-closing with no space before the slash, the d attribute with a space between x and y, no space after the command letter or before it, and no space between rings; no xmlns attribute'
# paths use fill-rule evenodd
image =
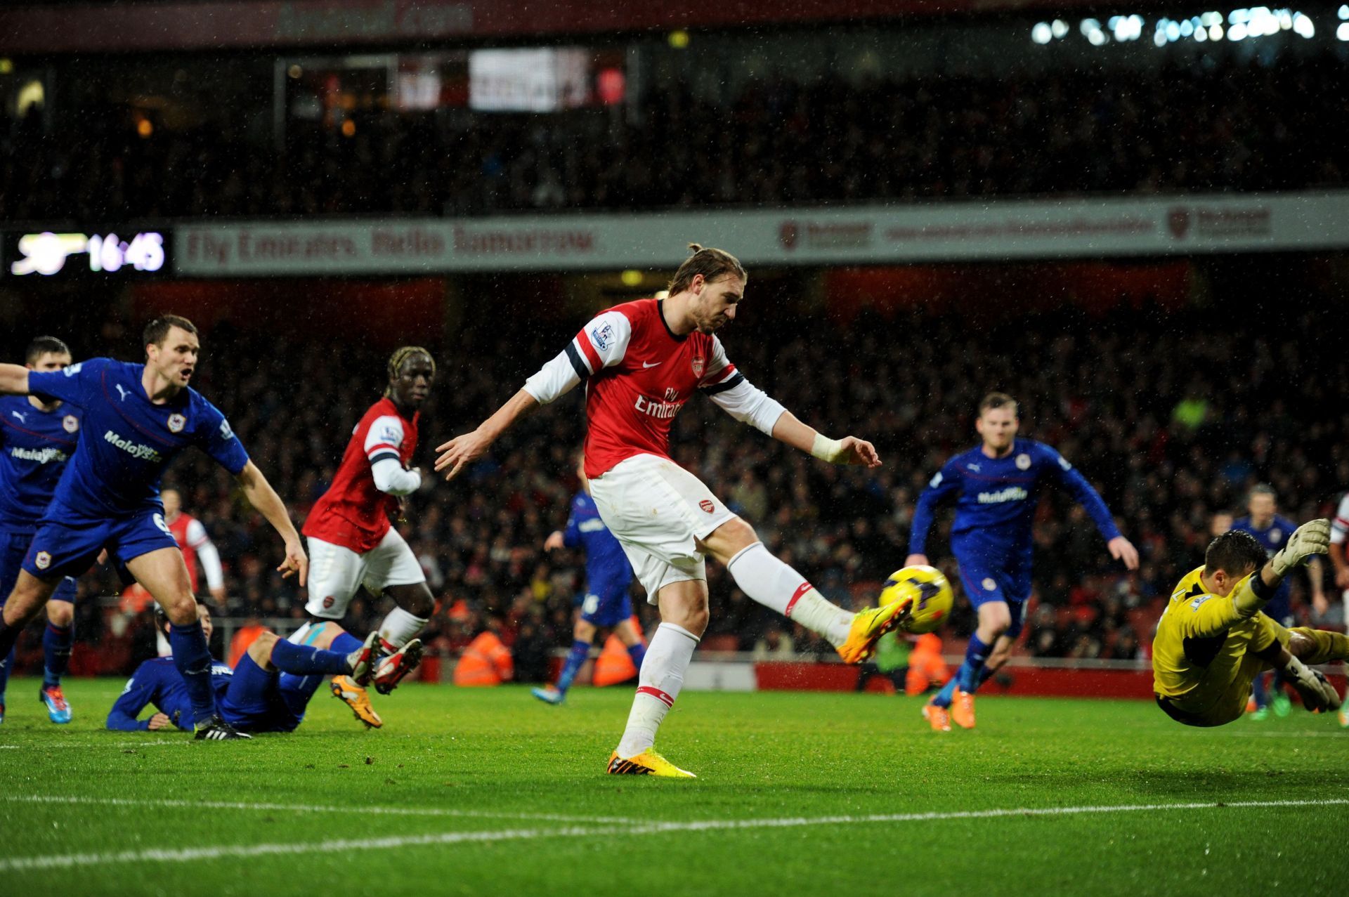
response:
<svg viewBox="0 0 1349 897"><path fill-rule="evenodd" d="M567 348L585 386L585 476L634 455L669 457L670 424L697 388L730 388L735 366L722 341L697 330L676 336L657 299L598 316ZM741 378L743 379L743 378Z"/></svg>

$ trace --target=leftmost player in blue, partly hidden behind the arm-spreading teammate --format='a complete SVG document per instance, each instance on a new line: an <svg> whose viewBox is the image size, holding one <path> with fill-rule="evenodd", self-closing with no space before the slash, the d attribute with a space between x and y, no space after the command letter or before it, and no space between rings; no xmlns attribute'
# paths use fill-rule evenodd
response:
<svg viewBox="0 0 1349 897"><path fill-rule="evenodd" d="M59 371L70 364L70 349L54 336L39 336L23 353L30 371ZM80 438L76 405L45 402L28 395L0 395L0 606L19 579L23 556L38 529L38 518L51 502L61 471L74 455ZM61 691L61 677L70 662L76 581L65 577L47 604L42 634L42 687L38 699L47 705L53 723L70 722L70 704ZM13 669L13 649L0 656L0 723L4 692Z"/></svg>

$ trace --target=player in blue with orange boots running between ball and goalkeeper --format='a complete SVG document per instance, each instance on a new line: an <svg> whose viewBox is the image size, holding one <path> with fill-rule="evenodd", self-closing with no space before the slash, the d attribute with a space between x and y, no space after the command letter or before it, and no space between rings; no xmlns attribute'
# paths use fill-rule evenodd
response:
<svg viewBox="0 0 1349 897"><path fill-rule="evenodd" d="M1020 421L1010 395L983 397L974 426L982 444L948 460L919 496L904 561L905 567L928 562L924 545L934 509L955 495L951 553L979 622L960 669L923 708L938 731L950 731L952 718L958 726L974 728L974 692L1006 662L1021 633L1031 598L1031 525L1045 482L1072 492L1105 537L1110 557L1130 571L1139 567L1137 549L1120 534L1086 478L1044 442L1016 437Z"/></svg>

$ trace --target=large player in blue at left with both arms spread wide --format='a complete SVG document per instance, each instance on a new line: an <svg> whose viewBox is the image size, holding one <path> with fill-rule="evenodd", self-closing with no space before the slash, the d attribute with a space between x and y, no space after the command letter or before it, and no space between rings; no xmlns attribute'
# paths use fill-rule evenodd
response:
<svg viewBox="0 0 1349 897"><path fill-rule="evenodd" d="M286 506L248 460L225 415L188 386L201 343L192 321L166 314L144 330L146 361L90 359L61 371L0 364L0 394L61 399L84 409L78 451L57 484L0 619L0 657L62 577L80 575L104 549L169 618L174 665L192 696L197 738L246 738L216 714L210 652L197 619L182 552L163 519L159 478L196 445L235 475L244 496L281 534L283 576L308 579L309 558Z"/></svg>

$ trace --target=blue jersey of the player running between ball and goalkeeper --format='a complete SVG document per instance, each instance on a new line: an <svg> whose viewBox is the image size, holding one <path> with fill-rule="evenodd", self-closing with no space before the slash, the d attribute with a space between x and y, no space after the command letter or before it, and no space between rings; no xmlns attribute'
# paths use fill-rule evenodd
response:
<svg viewBox="0 0 1349 897"><path fill-rule="evenodd" d="M1018 438L1004 457L992 459L975 446L938 471L913 509L909 553L925 553L936 504L950 495L955 495L952 542L1029 552L1035 509L1045 483L1067 487L1106 541L1120 536L1110 510L1082 473L1044 442Z"/></svg>

